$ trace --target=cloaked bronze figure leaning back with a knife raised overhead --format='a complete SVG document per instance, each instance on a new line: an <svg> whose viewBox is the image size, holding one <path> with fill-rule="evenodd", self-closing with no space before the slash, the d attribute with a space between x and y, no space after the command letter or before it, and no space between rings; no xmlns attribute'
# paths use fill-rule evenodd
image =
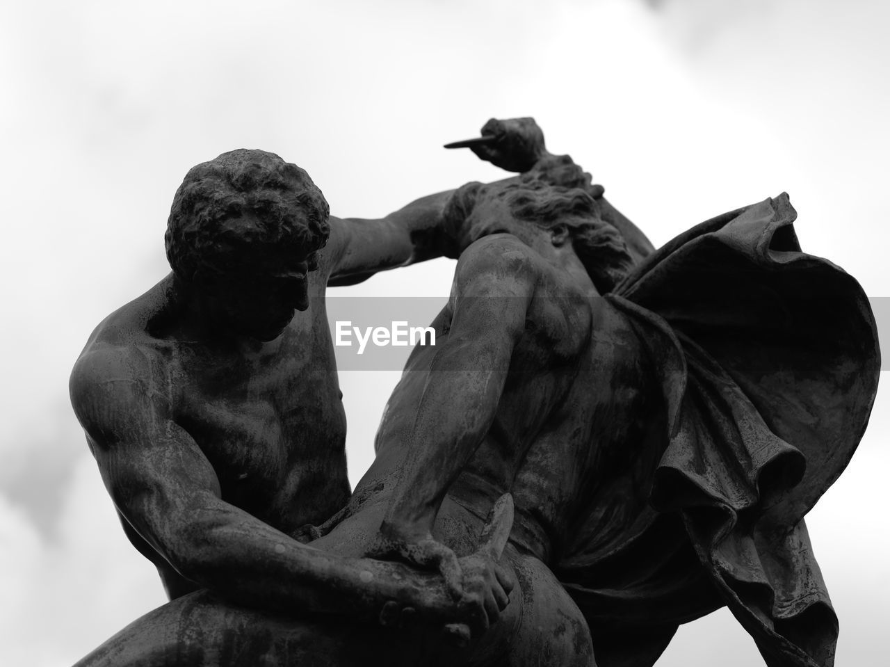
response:
<svg viewBox="0 0 890 667"><path fill-rule="evenodd" d="M463 143L523 173L426 199L414 208L433 210L425 223L401 219L459 256L437 345L411 355L346 508L295 533L317 538L319 562L415 565L360 561L380 568L364 571L369 584L426 576L474 609L464 620L451 610L463 646L424 619L448 616L429 598L425 608L391 592L382 620L397 627L382 629L322 615L344 606L322 608L312 584L302 619L275 598L241 607L209 586L85 664L643 667L680 622L724 605L771 667L832 662L837 622L803 516L852 454L877 386L862 290L800 252L784 195L652 252L589 175L546 152L530 119L490 121ZM498 566L506 492L516 518ZM247 504L258 493L240 496L243 508L274 525ZM480 532L488 543L473 554ZM352 600L354 586L333 588ZM473 619L474 631L462 624Z"/></svg>

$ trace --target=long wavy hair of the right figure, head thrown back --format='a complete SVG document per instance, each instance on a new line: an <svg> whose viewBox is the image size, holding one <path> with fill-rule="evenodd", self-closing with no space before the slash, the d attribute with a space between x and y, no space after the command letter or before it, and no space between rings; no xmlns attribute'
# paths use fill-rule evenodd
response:
<svg viewBox="0 0 890 667"><path fill-rule="evenodd" d="M529 172L513 183L466 183L455 191L445 207L446 232L450 238L457 239L461 225L480 199L504 199L519 220L545 229L565 224L572 248L596 289L603 294L611 291L627 275L634 261L621 233L600 216L600 204L590 191L598 194L602 188L564 187L549 183L549 176L546 172Z"/></svg>

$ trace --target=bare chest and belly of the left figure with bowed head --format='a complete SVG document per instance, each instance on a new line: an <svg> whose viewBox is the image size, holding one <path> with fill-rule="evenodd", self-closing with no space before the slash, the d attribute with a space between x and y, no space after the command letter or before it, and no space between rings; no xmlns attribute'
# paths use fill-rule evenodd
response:
<svg viewBox="0 0 890 667"><path fill-rule="evenodd" d="M174 338L166 312L168 277L109 315L82 355L103 348L138 350L147 370L141 373L145 395L164 403L198 444L214 468L222 499L291 535L333 515L350 494L325 276L310 277L309 309L269 343L210 347ZM134 546L158 566L171 598L198 588L123 517L121 523Z"/></svg>

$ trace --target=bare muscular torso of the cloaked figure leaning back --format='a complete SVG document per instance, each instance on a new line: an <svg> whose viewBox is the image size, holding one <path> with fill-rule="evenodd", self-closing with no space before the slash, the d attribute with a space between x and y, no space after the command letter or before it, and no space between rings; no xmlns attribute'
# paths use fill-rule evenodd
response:
<svg viewBox="0 0 890 667"><path fill-rule="evenodd" d="M484 297L475 292L474 298L515 302L523 309L521 331L514 340L499 343L509 349L493 419L448 495L481 518L502 492L512 492L513 540L546 561L583 503L603 452L611 455L639 426L625 418L635 403L646 400L641 391L645 383L638 368L638 342L619 313L589 284L512 236L487 236L461 256L449 305L433 322L437 344L418 346L411 355L377 434L377 460L357 486L356 500L386 495L398 484L409 451L433 447L422 434L419 441L411 434L425 393L433 384L455 380L454 370L441 370L437 355L454 347L470 360L465 367L484 371L473 367L474 349L487 345L482 340L486 336L497 338L505 322L475 322L473 337L457 333L455 338L465 323L460 311L477 273L488 287ZM454 386L452 395L466 388ZM457 437L465 428L460 411L473 406L456 408L453 403L457 401L441 405L441 430L452 428ZM443 439L441 447L452 445ZM443 454L449 455L457 453ZM443 526L442 517L438 525Z"/></svg>

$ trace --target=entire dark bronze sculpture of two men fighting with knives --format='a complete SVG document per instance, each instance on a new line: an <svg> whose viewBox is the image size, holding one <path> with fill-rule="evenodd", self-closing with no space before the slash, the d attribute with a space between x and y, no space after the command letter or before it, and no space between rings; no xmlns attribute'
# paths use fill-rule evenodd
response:
<svg viewBox="0 0 890 667"><path fill-rule="evenodd" d="M327 246L292 165L271 188L249 151L187 177L168 245L198 249L71 384L172 601L82 664L644 667L724 605L770 667L833 663L803 517L874 399L862 289L800 251L785 195L655 251L532 119L482 134L466 145L520 175L332 218ZM324 286L437 254L458 257L437 345L350 498Z"/></svg>

